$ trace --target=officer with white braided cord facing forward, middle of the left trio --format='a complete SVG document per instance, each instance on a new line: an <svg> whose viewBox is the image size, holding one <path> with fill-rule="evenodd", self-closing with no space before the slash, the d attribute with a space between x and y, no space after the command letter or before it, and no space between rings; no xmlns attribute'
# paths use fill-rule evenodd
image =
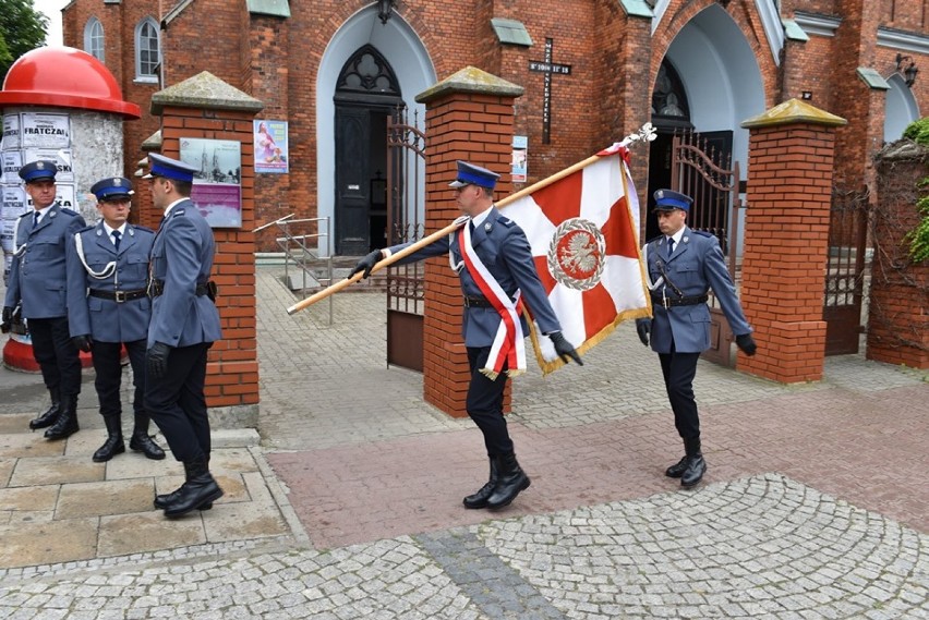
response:
<svg viewBox="0 0 929 620"><path fill-rule="evenodd" d="M135 421L129 447L148 459L165 458L165 451L148 436L148 414L143 406L145 344L152 316L148 255L155 233L128 222L131 186L123 177L97 181L91 192L97 197L101 219L68 244L68 323L77 348L94 353L94 385L107 426L107 440L93 457L98 463L125 452L120 402L123 345L135 386Z"/></svg>

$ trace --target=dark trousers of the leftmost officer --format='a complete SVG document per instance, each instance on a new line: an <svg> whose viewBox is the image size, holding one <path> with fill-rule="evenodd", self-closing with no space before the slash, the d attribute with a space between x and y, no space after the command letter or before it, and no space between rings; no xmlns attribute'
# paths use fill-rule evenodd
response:
<svg viewBox="0 0 929 620"><path fill-rule="evenodd" d="M28 327L48 390L62 398L81 393L81 354L71 341L68 317L31 318Z"/></svg>

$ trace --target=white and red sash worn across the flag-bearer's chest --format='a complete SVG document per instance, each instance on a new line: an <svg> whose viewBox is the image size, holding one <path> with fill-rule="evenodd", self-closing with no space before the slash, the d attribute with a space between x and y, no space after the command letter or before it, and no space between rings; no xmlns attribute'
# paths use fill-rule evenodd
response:
<svg viewBox="0 0 929 620"><path fill-rule="evenodd" d="M471 246L471 227L461 227L458 232L458 245L461 248L461 256L464 259L468 272L476 282L478 288L481 289L484 297L500 315L500 325L491 347L491 354L487 356L486 365L481 368L481 373L491 380L495 380L503 369L504 363L507 364L506 373L510 377L524 373L526 343L523 342L522 325L519 321L519 314L522 312L520 291L517 290L516 300L510 300L500 288Z"/></svg>

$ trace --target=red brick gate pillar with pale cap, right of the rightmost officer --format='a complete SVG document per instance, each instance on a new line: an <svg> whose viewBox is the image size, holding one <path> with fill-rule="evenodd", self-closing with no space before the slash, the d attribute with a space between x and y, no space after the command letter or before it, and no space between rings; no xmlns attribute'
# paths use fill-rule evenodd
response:
<svg viewBox="0 0 929 620"><path fill-rule="evenodd" d="M784 384L822 378L833 153L843 124L798 99L743 123L751 134L741 301L758 353L739 353L740 370Z"/></svg>

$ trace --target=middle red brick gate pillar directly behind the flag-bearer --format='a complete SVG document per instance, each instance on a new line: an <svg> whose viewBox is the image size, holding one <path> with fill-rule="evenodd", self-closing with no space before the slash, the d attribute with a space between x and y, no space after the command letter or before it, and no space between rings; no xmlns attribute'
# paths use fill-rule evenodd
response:
<svg viewBox="0 0 929 620"><path fill-rule="evenodd" d="M509 178L514 100L522 87L473 66L420 94L426 106L426 231L445 228L461 215L448 183L463 159L499 172L495 197L512 192ZM461 288L448 257L425 267L423 396L445 413L463 417L468 356L461 339ZM507 392L506 409L509 409Z"/></svg>

